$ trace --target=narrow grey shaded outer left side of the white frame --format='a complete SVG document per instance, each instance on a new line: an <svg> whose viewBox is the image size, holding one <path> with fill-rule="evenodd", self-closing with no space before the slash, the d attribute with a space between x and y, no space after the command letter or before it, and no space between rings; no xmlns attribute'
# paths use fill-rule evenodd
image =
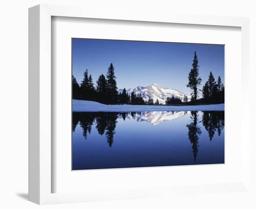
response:
<svg viewBox="0 0 256 209"><path fill-rule="evenodd" d="M28 200L40 204L40 6L28 10Z"/></svg>

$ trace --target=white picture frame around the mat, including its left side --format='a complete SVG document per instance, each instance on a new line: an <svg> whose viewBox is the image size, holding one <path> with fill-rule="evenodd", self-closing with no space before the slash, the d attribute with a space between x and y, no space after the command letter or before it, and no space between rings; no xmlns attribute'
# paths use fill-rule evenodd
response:
<svg viewBox="0 0 256 209"><path fill-rule="evenodd" d="M198 185L206 191L229 192L232 189L249 189L249 19L238 17L219 17L203 15L162 14L143 15L129 14L123 11L89 11L81 7L38 5L29 9L29 200L38 204L85 202L97 200L113 200L132 197L153 196L155 194L172 195L181 192L181 188L148 188L116 192L115 196L101 195L93 192L52 193L52 98L51 98L51 18L76 17L104 20L133 20L140 22L176 23L208 26L240 27L242 34L242 85L243 115L241 115L241 164L240 182L220 183L216 185ZM240 136L242 137L242 136ZM123 172L126 172L125 170ZM190 189L198 189L191 186Z"/></svg>

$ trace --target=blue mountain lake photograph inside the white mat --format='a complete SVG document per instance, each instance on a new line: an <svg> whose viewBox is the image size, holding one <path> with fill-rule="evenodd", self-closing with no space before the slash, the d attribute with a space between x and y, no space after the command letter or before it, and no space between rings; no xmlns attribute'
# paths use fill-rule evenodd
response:
<svg viewBox="0 0 256 209"><path fill-rule="evenodd" d="M73 38L72 76L72 170L225 162L224 45Z"/></svg>

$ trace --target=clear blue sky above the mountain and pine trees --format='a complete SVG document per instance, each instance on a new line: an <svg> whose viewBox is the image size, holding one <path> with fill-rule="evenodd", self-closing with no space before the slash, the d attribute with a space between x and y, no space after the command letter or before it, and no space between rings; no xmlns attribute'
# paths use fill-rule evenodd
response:
<svg viewBox="0 0 256 209"><path fill-rule="evenodd" d="M224 45L184 44L103 39L72 39L73 75L81 83L88 69L94 85L113 63L118 88L153 83L189 94L186 87L194 52L199 61L202 86L212 71L224 83Z"/></svg>

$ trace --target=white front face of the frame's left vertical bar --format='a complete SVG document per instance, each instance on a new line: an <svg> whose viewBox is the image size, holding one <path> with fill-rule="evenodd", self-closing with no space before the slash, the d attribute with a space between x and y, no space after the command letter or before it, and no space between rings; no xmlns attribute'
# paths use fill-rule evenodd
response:
<svg viewBox="0 0 256 209"><path fill-rule="evenodd" d="M51 192L51 16L39 6L39 186L40 204L47 204Z"/></svg>

